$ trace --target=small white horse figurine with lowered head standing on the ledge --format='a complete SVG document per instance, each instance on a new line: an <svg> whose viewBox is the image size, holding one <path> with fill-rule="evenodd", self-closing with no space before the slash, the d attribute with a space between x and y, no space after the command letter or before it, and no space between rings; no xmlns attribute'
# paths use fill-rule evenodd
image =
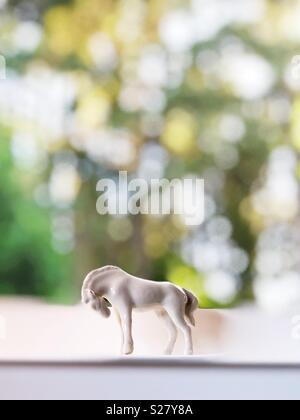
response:
<svg viewBox="0 0 300 420"><path fill-rule="evenodd" d="M188 290L171 283L159 283L131 276L117 267L107 266L92 271L84 280L82 302L109 318L112 306L122 328L122 352L134 351L132 337L133 309L155 309L166 322L170 341L166 354L172 354L177 340L177 328L185 337L185 354L193 354L191 326L195 326L194 312L197 298Z"/></svg>

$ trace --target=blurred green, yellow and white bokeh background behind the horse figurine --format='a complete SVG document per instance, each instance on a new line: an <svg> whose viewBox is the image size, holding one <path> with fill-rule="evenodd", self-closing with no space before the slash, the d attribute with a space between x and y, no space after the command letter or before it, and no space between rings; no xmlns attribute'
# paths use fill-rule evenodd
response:
<svg viewBox="0 0 300 420"><path fill-rule="evenodd" d="M115 264L204 307L300 303L299 20L299 0L0 0L0 293L75 302ZM120 170L204 178L205 223L98 215Z"/></svg>

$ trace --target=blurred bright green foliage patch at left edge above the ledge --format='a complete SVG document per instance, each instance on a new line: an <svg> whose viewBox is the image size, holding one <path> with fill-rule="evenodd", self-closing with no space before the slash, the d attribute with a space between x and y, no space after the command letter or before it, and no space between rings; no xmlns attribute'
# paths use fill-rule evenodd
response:
<svg viewBox="0 0 300 420"><path fill-rule="evenodd" d="M58 300L62 293L66 299L72 294L71 282L66 284L70 260L54 251L49 214L33 201L30 177L12 162L9 133L3 127L0 132L0 292Z"/></svg>

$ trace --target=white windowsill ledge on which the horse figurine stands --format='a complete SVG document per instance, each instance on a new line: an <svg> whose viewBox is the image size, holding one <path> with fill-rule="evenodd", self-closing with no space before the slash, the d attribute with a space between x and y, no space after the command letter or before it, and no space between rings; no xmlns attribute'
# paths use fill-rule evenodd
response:
<svg viewBox="0 0 300 420"><path fill-rule="evenodd" d="M196 355L162 357L167 334L134 316L136 355L120 357L119 329L83 308L0 299L0 399L300 398L300 342L292 316L252 307L199 311Z"/></svg>

